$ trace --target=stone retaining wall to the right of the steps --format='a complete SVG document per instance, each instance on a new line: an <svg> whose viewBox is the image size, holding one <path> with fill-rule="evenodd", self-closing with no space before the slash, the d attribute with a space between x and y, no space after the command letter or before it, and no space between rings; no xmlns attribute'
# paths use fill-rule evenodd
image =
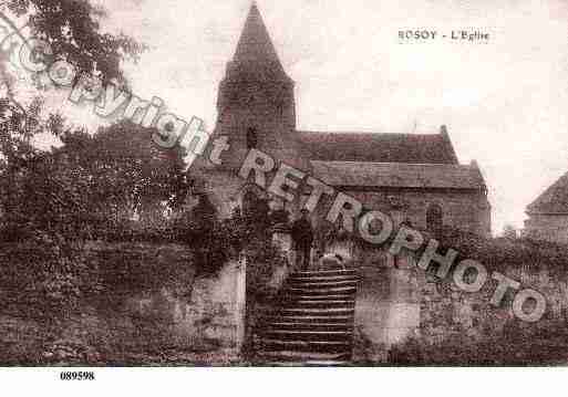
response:
<svg viewBox="0 0 568 397"><path fill-rule="evenodd" d="M497 281L466 293L450 280L419 269L411 257L359 252L361 283L355 305L354 359L373 365L555 364L568 362L568 276L547 265L498 271L539 291L547 300L541 320L513 313L514 293L502 305L490 299ZM489 274L492 269L488 268Z"/></svg>

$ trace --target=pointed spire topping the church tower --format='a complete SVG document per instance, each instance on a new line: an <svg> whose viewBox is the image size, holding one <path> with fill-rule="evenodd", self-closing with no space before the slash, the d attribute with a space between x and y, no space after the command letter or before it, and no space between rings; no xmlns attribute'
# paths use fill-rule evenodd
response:
<svg viewBox="0 0 568 397"><path fill-rule="evenodd" d="M262 21L256 1L252 2L237 45L235 62L273 64L282 70L276 49Z"/></svg>

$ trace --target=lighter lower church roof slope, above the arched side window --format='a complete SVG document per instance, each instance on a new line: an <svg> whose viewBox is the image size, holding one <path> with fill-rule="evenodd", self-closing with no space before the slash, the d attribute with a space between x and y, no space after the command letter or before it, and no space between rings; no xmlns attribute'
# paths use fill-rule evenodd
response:
<svg viewBox="0 0 568 397"><path fill-rule="evenodd" d="M335 187L484 190L479 168L450 164L311 161L323 182Z"/></svg>

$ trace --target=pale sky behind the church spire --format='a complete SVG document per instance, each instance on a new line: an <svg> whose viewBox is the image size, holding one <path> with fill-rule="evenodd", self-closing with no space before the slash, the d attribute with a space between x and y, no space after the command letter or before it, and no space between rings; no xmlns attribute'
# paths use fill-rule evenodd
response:
<svg viewBox="0 0 568 397"><path fill-rule="evenodd" d="M104 29L144 42L126 64L133 92L213 128L226 63L250 0L105 0ZM567 0L260 0L296 81L298 128L437 133L489 188L493 229L523 227L525 208L568 171ZM484 43L404 42L401 30L482 31ZM90 128L89 109L55 108Z"/></svg>

